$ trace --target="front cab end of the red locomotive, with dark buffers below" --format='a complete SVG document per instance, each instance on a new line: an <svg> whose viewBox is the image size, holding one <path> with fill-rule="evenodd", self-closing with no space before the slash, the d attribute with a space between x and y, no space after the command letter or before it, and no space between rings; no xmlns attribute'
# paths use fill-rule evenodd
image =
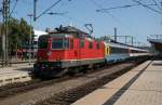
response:
<svg viewBox="0 0 162 105"><path fill-rule="evenodd" d="M66 68L69 38L65 35L44 35L39 38L35 74L54 76Z"/></svg>

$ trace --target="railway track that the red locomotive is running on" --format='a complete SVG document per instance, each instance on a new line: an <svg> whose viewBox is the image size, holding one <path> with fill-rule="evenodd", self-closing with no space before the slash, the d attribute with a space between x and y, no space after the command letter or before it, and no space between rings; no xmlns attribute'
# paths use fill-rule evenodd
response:
<svg viewBox="0 0 162 105"><path fill-rule="evenodd" d="M109 68L113 67L116 65L118 65L118 64L109 65ZM105 68L108 68L108 67L99 68L99 70L105 69ZM95 71L97 71L97 69L96 70L89 70L89 73L86 73L86 74L89 75L89 74L92 74ZM84 74L77 74L72 77L69 75L66 75L62 78L54 78L54 79L49 79L49 80L48 79L44 79L44 80L33 79L33 80L26 81L26 82L17 82L17 83L10 83L6 86L2 86L2 87L0 87L0 100L8 97L8 96L11 96L11 95L15 95L17 93L29 91L32 89L42 88L42 87L50 86L50 84L53 84L56 82L62 82L64 80L69 80L72 78L78 78L78 77L81 77Z"/></svg>

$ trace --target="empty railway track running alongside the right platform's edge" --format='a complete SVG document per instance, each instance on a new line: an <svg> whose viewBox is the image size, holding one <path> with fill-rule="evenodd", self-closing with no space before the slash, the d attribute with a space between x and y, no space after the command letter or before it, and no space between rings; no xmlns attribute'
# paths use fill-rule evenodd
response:
<svg viewBox="0 0 162 105"><path fill-rule="evenodd" d="M94 90L112 81L113 79L118 78L119 76L127 73L134 66L129 66L129 67L123 68L117 73L109 75L109 76L104 76L99 79L93 80L93 81L87 82L82 86L79 86L75 89L70 89L68 91L63 91L60 93L53 95L52 97L50 97L45 101L41 101L41 102L37 103L36 105L70 105L73 102L76 102L77 100L83 97L84 95L93 92Z"/></svg>

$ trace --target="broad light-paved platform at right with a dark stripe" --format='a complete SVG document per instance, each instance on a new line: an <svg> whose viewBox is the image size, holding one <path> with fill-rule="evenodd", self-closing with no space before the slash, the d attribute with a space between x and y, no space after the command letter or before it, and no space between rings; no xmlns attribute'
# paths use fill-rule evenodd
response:
<svg viewBox="0 0 162 105"><path fill-rule="evenodd" d="M72 105L162 105L162 60L140 64Z"/></svg>

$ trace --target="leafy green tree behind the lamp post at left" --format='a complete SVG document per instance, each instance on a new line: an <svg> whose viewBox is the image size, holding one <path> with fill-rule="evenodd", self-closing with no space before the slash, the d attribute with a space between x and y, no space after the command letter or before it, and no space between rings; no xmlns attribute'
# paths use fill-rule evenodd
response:
<svg viewBox="0 0 162 105"><path fill-rule="evenodd" d="M31 27L32 29L32 27ZM15 52L16 49L22 49L23 44L29 41L30 26L21 18L10 18L9 21L9 50Z"/></svg>

